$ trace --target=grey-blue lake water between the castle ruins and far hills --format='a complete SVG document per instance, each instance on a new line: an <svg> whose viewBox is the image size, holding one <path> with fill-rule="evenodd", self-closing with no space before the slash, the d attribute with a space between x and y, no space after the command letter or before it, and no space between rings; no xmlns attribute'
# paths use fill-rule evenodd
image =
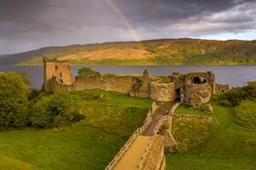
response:
<svg viewBox="0 0 256 170"><path fill-rule="evenodd" d="M77 75L79 68L83 66L72 66L73 77ZM256 82L256 66L191 66L191 65L143 65L143 66L88 66L103 74L114 73L116 75L142 75L144 69L148 69L150 75L172 75L172 72L181 74L191 71L212 71L218 83L230 84L237 87L246 82ZM15 66L0 65L0 71L27 71L32 86L41 88L43 85L43 66Z"/></svg>

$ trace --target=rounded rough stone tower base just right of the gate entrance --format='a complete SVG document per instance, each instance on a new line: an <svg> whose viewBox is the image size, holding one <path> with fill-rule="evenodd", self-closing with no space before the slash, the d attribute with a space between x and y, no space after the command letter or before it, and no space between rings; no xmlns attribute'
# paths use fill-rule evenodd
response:
<svg viewBox="0 0 256 170"><path fill-rule="evenodd" d="M199 109L201 104L207 103L212 96L212 88L208 83L191 83L185 88L184 101L192 109Z"/></svg>

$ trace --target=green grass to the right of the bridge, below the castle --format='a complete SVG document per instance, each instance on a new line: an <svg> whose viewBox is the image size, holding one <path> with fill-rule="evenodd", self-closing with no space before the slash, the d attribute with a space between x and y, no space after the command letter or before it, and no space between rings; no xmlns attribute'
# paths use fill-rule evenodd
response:
<svg viewBox="0 0 256 170"><path fill-rule="evenodd" d="M214 100L211 104L214 112L210 116L218 120L218 127L205 139L204 144L187 152L166 154L167 169L255 169L256 131L234 124L231 121L232 108L220 106ZM177 114L207 116L202 109L189 110L186 105L179 107Z"/></svg>

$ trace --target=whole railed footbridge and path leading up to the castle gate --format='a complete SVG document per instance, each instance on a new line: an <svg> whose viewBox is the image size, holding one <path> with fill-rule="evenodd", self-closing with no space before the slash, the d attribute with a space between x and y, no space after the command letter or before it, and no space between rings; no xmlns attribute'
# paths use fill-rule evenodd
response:
<svg viewBox="0 0 256 170"><path fill-rule="evenodd" d="M151 107L143 127L132 134L105 170L141 170L148 169L147 166L164 169L164 138L157 133L163 122L170 118L173 107L174 102L166 102L153 110Z"/></svg>

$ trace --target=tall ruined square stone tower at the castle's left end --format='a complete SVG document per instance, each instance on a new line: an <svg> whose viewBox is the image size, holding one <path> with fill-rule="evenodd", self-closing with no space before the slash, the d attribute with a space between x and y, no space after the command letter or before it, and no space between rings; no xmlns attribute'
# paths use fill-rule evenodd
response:
<svg viewBox="0 0 256 170"><path fill-rule="evenodd" d="M72 84L73 76L68 61L59 61L58 59L48 59L43 55L44 62L44 90L49 91L50 80L55 77L58 82L63 84Z"/></svg>

